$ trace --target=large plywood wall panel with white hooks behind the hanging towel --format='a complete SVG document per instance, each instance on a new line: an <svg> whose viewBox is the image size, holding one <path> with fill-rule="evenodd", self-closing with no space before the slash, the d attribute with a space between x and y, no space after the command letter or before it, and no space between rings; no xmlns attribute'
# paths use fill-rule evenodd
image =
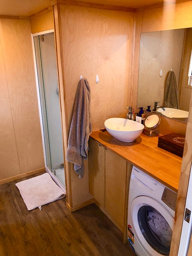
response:
<svg viewBox="0 0 192 256"><path fill-rule="evenodd" d="M107 118L124 117L129 105L133 13L60 5L60 14L68 126L82 75L91 87L98 130Z"/></svg>

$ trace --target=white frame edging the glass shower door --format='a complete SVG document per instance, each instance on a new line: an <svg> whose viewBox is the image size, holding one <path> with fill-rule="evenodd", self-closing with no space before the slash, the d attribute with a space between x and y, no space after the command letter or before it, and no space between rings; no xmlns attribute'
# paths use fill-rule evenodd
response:
<svg viewBox="0 0 192 256"><path fill-rule="evenodd" d="M37 71L37 64L36 64L36 53L35 53L34 36L41 36L41 35L50 34L50 33L55 33L54 29L49 29L49 30L45 30L45 31L42 31L42 32L34 33L34 34L31 33L31 40L32 40L32 49L33 49L33 60L34 60L34 68L35 68L35 79L36 79L36 89L37 89L37 99L38 99L39 117L40 117L40 125L41 125L41 136L42 136L42 143L43 143L45 170L46 170L46 172L48 172L51 175L51 177L55 181L55 183L66 194L66 189L62 186L62 184L59 182L59 180L56 179L55 175L47 167L46 150L45 150L45 137L44 137L44 127L43 127L43 115L42 115L42 111L41 111L41 100L40 100L40 92L39 92L39 80L38 80L38 71ZM64 173L64 175L65 175L65 173ZM66 186L66 184L65 184L65 186Z"/></svg>

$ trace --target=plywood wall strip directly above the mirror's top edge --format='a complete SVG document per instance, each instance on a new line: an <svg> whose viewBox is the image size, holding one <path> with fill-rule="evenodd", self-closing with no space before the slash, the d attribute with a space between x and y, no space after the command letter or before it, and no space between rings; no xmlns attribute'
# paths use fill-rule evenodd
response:
<svg viewBox="0 0 192 256"><path fill-rule="evenodd" d="M192 27L192 1L143 11L142 32Z"/></svg>

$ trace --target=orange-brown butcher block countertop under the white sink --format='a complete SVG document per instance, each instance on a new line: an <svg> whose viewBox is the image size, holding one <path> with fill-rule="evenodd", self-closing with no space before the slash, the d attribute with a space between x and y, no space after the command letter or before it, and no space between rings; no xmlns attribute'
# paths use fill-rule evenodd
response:
<svg viewBox="0 0 192 256"><path fill-rule="evenodd" d="M107 131L94 131L90 137L177 192L182 158L157 147L160 135L149 137L146 133L144 131L131 143L116 140Z"/></svg>

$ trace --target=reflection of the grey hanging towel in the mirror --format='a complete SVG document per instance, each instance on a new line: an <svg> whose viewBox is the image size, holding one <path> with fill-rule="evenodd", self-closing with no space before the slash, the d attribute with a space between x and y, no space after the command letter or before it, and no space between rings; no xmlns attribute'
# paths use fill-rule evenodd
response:
<svg viewBox="0 0 192 256"><path fill-rule="evenodd" d="M165 82L164 107L179 109L177 82L173 71L169 71Z"/></svg>

